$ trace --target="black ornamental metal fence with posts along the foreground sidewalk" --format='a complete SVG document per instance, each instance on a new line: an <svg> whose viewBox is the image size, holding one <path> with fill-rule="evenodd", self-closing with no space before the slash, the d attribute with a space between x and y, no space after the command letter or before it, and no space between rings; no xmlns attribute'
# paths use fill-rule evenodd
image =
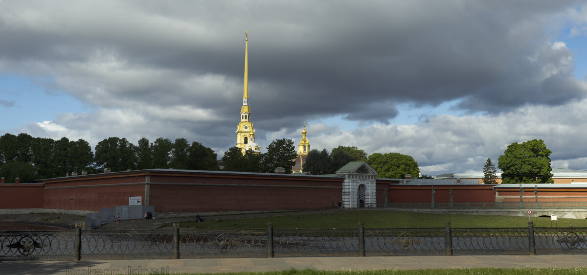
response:
<svg viewBox="0 0 587 275"><path fill-rule="evenodd" d="M0 232L1 260L585 254L587 228L76 230Z"/></svg>

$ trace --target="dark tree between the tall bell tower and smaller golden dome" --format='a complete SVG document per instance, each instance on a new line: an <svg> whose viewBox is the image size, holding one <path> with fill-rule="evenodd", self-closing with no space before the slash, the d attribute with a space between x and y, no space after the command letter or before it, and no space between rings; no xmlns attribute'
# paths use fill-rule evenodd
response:
<svg viewBox="0 0 587 275"><path fill-rule="evenodd" d="M297 156L294 140L276 139L267 146L267 152L261 156L262 170L265 173L275 173L275 168L282 167L286 174L291 174Z"/></svg>

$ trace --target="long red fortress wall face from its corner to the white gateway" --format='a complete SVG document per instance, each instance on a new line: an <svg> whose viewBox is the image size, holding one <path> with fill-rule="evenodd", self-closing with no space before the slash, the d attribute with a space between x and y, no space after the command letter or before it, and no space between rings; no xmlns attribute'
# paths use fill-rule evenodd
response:
<svg viewBox="0 0 587 275"><path fill-rule="evenodd" d="M338 207L342 178L292 175L157 175L149 204L157 212L309 210Z"/></svg>

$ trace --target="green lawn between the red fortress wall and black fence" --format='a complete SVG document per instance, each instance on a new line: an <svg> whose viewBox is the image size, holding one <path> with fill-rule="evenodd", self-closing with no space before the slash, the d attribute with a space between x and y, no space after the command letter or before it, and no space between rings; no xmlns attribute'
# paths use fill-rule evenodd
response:
<svg viewBox="0 0 587 275"><path fill-rule="evenodd" d="M205 217L204 217L205 218ZM532 217L535 227L551 227L549 217ZM401 227L528 227L528 216L483 216L465 214L429 214L392 210L341 210L318 214L286 214L284 216L224 219L220 222L180 222L180 227L191 229L251 229L265 228L272 222L275 228L355 228L359 222L366 228ZM587 220L558 219L558 227L587 227ZM554 227L554 223L552 226ZM164 226L172 226L171 223Z"/></svg>

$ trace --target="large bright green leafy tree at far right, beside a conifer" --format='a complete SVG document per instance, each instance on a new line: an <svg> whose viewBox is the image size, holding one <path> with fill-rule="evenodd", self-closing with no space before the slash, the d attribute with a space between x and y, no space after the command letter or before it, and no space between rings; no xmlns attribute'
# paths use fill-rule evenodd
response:
<svg viewBox="0 0 587 275"><path fill-rule="evenodd" d="M497 162L501 183L553 183L551 153L542 139L508 145Z"/></svg>

